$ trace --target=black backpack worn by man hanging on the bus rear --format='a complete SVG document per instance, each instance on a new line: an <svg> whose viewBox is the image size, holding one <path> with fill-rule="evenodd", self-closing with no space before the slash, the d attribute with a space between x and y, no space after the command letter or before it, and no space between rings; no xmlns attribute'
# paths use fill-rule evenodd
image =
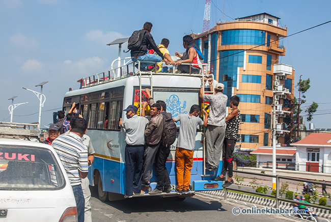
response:
<svg viewBox="0 0 331 222"><path fill-rule="evenodd" d="M176 140L177 126L170 113L162 114L163 132L161 137L161 147L170 148Z"/></svg>

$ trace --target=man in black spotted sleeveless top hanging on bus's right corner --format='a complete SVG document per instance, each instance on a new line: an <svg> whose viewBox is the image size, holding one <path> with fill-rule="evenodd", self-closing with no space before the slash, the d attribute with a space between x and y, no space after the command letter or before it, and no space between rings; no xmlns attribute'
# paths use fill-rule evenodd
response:
<svg viewBox="0 0 331 222"><path fill-rule="evenodd" d="M229 177L228 180L225 181L223 187L228 187L233 184L232 176L233 176L233 164L232 157L234 146L236 145L236 141L238 138L238 129L240 124L240 111L238 109L240 99L238 96L234 95L230 98L230 107L232 112L227 116L225 122L227 123L225 138L223 143L223 167L222 173L220 176L213 178L216 181L224 181L227 170L229 169Z"/></svg>

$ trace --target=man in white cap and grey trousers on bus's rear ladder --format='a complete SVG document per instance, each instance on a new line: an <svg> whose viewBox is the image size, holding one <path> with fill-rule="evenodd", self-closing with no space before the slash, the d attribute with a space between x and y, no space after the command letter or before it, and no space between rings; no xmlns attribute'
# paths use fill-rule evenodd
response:
<svg viewBox="0 0 331 222"><path fill-rule="evenodd" d="M203 95L203 87L207 78L203 79L200 89L200 98L209 101L209 117L206 130L206 169L215 171L218 168L220 157L223 151L223 141L225 136L225 115L228 96L223 94L224 85L216 84L214 94ZM213 91L213 79L208 79L210 91Z"/></svg>

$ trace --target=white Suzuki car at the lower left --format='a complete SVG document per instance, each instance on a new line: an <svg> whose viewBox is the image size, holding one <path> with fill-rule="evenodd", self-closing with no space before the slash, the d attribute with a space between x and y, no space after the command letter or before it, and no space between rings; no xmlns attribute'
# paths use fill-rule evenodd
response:
<svg viewBox="0 0 331 222"><path fill-rule="evenodd" d="M1 221L77 221L72 187L51 146L0 139Z"/></svg>

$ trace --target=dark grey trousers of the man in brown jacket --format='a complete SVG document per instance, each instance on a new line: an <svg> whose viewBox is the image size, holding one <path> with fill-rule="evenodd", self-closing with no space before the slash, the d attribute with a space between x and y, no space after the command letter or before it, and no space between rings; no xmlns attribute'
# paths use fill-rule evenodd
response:
<svg viewBox="0 0 331 222"><path fill-rule="evenodd" d="M149 183L152 178L152 166L160 143L156 146L145 145L142 182Z"/></svg>

